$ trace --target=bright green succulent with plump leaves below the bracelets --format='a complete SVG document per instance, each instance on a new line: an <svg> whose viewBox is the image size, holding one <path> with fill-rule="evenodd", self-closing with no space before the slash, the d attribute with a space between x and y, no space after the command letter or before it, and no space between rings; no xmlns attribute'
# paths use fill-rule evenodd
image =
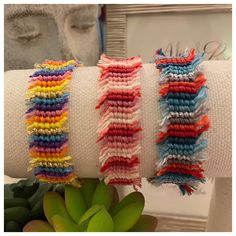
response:
<svg viewBox="0 0 236 236"><path fill-rule="evenodd" d="M148 232L157 225L155 217L142 215L144 196L132 192L119 201L117 189L98 179L82 179L82 187L65 186L44 194L46 220L32 220L24 232Z"/></svg>

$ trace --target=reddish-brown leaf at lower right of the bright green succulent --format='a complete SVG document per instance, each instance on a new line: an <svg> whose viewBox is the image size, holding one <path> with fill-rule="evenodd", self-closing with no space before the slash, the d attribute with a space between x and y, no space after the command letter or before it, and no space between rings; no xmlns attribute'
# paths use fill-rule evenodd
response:
<svg viewBox="0 0 236 236"><path fill-rule="evenodd" d="M155 232L157 218L150 215L141 215L137 223L129 230L130 232Z"/></svg>

